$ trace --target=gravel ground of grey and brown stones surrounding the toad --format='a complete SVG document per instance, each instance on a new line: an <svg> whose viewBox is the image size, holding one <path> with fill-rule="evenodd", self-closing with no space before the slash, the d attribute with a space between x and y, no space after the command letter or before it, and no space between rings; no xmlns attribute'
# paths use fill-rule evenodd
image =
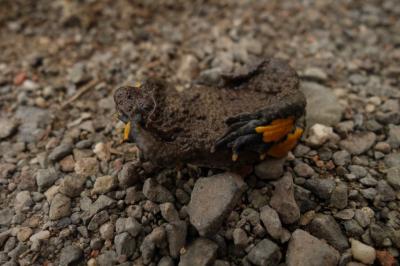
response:
<svg viewBox="0 0 400 266"><path fill-rule="evenodd" d="M396 265L397 0L128 2L0 2L1 265ZM286 161L242 180L121 144L117 86L264 56L308 98Z"/></svg>

